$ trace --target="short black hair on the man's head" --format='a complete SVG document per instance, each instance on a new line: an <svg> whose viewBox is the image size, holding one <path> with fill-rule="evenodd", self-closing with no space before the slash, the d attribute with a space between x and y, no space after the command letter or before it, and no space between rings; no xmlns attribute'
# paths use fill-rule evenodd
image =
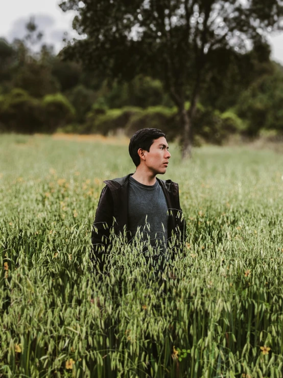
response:
<svg viewBox="0 0 283 378"><path fill-rule="evenodd" d="M158 128L142 128L132 136L129 144L129 153L136 167L140 163L137 150L141 148L149 152L152 143L160 137L166 138L166 135Z"/></svg>

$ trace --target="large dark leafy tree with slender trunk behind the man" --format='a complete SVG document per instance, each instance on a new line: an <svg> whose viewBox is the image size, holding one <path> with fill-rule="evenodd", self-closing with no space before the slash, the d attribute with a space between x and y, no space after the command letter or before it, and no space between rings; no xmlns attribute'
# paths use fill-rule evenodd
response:
<svg viewBox="0 0 283 378"><path fill-rule="evenodd" d="M111 79L143 73L162 80L179 109L183 157L191 154L210 63L218 52L225 59L224 50L244 54L265 42L266 32L282 28L283 14L280 0L66 0L61 8L77 11L73 27L82 36L64 49L65 57Z"/></svg>

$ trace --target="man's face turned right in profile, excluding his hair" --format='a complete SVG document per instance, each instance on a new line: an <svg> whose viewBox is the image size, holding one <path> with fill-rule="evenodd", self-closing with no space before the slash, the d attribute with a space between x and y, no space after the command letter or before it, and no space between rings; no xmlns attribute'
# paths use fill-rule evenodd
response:
<svg viewBox="0 0 283 378"><path fill-rule="evenodd" d="M164 174L166 172L168 161L171 157L168 149L167 140L164 137L160 137L154 140L149 152L144 151L145 164L154 174Z"/></svg>

